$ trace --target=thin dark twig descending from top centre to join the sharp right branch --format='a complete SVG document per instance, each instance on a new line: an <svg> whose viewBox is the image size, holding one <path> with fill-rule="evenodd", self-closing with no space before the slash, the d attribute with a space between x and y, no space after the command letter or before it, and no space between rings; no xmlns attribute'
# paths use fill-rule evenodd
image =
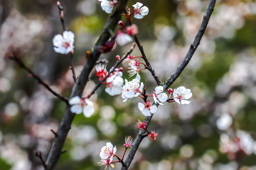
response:
<svg viewBox="0 0 256 170"><path fill-rule="evenodd" d="M131 23L130 16L127 14L127 11L126 11L126 10L124 10L124 13L125 13L125 15L126 15L126 17L127 17L127 20L128 20L128 22L129 22L129 25L131 26L132 23ZM161 81L159 80L158 76L156 76L155 70L152 68L151 64L149 63L148 59L146 58L146 54L145 54L145 52L144 52L144 50L143 50L143 46L140 45L140 42L139 42L139 40L138 40L137 35L134 34L133 37L134 37L135 42L137 43L137 46L138 46L138 48L139 48L139 51L140 51L141 55L142 55L142 59L144 59L144 61L146 62L146 69L148 69L148 70L151 72L152 76L155 78L156 84L157 84L157 85L160 85L160 84L161 84Z"/></svg>

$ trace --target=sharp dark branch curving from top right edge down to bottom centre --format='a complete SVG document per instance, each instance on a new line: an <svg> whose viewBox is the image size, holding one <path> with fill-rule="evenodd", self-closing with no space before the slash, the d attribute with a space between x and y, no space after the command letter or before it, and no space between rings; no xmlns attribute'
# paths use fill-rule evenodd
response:
<svg viewBox="0 0 256 170"><path fill-rule="evenodd" d="M186 54L185 56L185 59L182 61L182 63L176 68L176 70L174 71L174 73L172 74L172 76L170 76L167 80L165 80L165 82L162 84L164 86L164 91L167 90L167 88L169 88L170 85L173 84L173 82L177 79L177 77L181 74L181 72L183 71L183 69L186 67L186 65L188 64L188 62L190 61L190 59L192 58L192 55L194 54L196 48L198 47L198 45L200 44L200 40L204 34L204 31L206 29L206 26L209 22L209 19L210 19L210 16L211 16L211 13L213 11L213 8L215 6L215 2L216 0L210 0L210 3L209 3L209 6L207 8L207 11L206 11L206 14L205 16L203 17L203 21L201 23L201 27L195 37L195 40L193 42L193 44L191 45L188 53ZM152 114L153 116L153 114ZM149 125L149 122L150 120L152 119L152 116L147 116L146 119L144 121L146 121L146 128L148 127ZM126 163L126 167L122 167L121 170L128 170L130 164L131 164L131 161L133 160L134 158L134 155L138 149L138 146L139 144L141 143L142 139L145 137L143 136L143 134L145 133L145 129L143 130L140 130L137 137L136 137L136 142L135 144L133 145L133 147L131 148L129 154L128 154L128 157L125 161Z"/></svg>

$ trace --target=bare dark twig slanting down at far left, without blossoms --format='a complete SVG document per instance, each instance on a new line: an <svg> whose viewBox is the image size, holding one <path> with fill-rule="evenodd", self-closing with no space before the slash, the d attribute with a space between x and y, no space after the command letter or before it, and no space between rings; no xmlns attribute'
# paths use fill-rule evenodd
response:
<svg viewBox="0 0 256 170"><path fill-rule="evenodd" d="M61 99L62 101L68 103L68 99L65 98L64 96L62 96L61 94L59 93L56 93L53 89L51 89L51 87L45 83L41 78L40 76L38 76L36 73L34 73L30 68L27 68L27 66L23 63L23 61L19 58L18 56L18 53L16 51L13 51L13 54L8 54L7 56L9 59L12 59L14 61L16 61L18 63L18 65L25 69L32 77L34 77L37 82L43 86L46 87L47 90L49 90L49 92L51 92L53 95L55 95L56 97L58 97L59 99Z"/></svg>

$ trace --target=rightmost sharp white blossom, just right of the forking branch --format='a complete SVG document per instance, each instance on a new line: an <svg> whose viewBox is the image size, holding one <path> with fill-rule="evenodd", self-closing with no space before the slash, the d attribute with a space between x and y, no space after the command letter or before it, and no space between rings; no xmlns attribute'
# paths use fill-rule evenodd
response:
<svg viewBox="0 0 256 170"><path fill-rule="evenodd" d="M184 100L192 97L192 93L190 89L186 89L183 86L174 89L174 100L179 104L189 104L190 101Z"/></svg>

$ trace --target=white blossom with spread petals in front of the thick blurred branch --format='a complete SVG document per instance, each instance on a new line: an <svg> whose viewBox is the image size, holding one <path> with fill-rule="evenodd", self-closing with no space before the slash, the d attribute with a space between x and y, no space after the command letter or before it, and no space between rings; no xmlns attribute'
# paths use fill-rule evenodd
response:
<svg viewBox="0 0 256 170"><path fill-rule="evenodd" d="M93 103L89 99L81 99L78 96L71 98L68 102L72 113L81 114L83 112L86 118L90 118L94 112Z"/></svg>

